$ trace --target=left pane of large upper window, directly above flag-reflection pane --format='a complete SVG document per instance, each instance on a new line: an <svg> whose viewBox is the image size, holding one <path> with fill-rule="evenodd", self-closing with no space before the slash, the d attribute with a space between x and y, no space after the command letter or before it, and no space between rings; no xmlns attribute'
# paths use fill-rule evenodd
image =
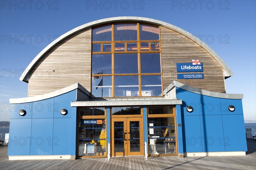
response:
<svg viewBox="0 0 256 170"><path fill-rule="evenodd" d="M92 74L111 74L112 73L111 54L92 55Z"/></svg>

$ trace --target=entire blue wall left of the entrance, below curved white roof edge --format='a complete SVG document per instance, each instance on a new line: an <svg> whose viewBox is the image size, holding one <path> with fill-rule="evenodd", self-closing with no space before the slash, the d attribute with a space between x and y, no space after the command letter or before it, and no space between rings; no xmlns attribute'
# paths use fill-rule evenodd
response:
<svg viewBox="0 0 256 170"><path fill-rule="evenodd" d="M76 155L77 113L76 107L70 106L72 101L76 101L76 90L50 99L12 105L9 156ZM62 108L67 109L67 115L61 115ZM25 116L19 115L20 109L26 110Z"/></svg>

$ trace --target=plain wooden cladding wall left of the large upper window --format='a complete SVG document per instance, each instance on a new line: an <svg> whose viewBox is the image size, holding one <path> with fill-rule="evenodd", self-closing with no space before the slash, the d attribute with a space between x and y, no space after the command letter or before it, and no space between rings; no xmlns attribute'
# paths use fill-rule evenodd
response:
<svg viewBox="0 0 256 170"><path fill-rule="evenodd" d="M46 94L76 82L90 91L90 69L91 28L61 41L40 59L30 73L28 96Z"/></svg>

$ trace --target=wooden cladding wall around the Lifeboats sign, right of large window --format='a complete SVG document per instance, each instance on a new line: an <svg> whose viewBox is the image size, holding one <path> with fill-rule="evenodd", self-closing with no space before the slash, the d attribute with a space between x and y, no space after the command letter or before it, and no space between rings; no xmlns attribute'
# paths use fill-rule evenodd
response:
<svg viewBox="0 0 256 170"><path fill-rule="evenodd" d="M225 93L221 65L200 45L188 37L160 26L163 89L173 80L208 91ZM199 59L204 65L204 79L177 79L176 63Z"/></svg>

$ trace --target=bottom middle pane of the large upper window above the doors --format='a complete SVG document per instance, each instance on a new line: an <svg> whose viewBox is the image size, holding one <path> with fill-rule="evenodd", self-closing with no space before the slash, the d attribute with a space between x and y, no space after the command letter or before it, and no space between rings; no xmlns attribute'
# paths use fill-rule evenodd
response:
<svg viewBox="0 0 256 170"><path fill-rule="evenodd" d="M115 76L115 96L139 96L138 76Z"/></svg>

